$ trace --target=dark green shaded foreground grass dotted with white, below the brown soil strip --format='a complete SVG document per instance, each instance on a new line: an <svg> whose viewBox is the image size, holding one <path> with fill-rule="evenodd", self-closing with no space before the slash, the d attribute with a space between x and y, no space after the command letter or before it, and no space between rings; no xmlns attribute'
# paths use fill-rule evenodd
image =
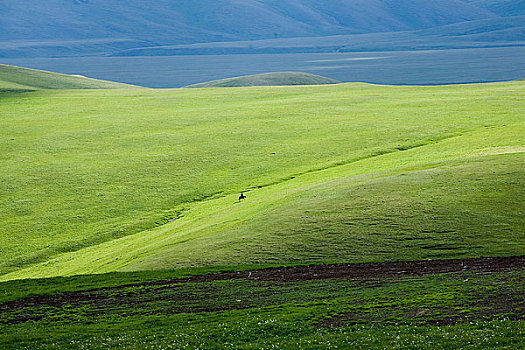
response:
<svg viewBox="0 0 525 350"><path fill-rule="evenodd" d="M64 286L100 284L97 276L3 282L1 303L43 295L46 285L62 292L47 302L1 308L0 344L3 349L519 349L525 336L524 272L174 282L90 289L79 297L64 293L69 289ZM158 274L143 273L139 280ZM120 285L122 275L106 275L103 283Z"/></svg>

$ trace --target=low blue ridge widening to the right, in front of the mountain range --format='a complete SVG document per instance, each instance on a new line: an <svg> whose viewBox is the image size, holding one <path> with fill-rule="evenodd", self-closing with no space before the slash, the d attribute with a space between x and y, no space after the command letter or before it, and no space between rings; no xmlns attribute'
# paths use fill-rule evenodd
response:
<svg viewBox="0 0 525 350"><path fill-rule="evenodd" d="M417 31L163 45L123 50L115 56L326 53L463 49L525 45L525 16L492 18Z"/></svg>

